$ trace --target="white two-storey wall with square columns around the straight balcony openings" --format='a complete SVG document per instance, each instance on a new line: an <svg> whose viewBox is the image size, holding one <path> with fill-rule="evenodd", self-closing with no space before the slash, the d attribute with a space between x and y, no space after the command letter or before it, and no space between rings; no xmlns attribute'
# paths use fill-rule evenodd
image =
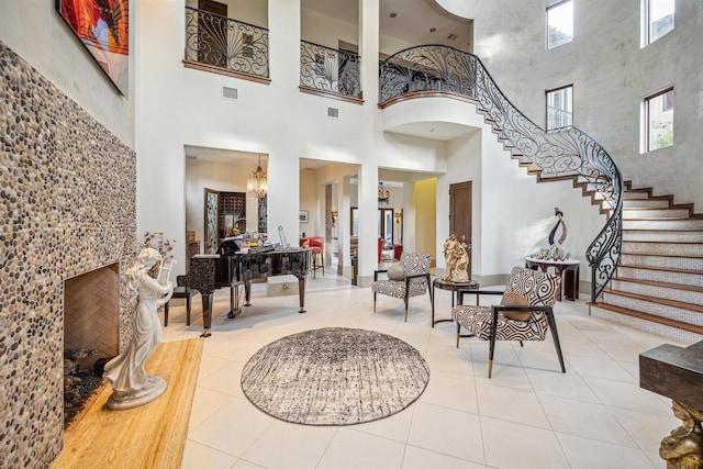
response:
<svg viewBox="0 0 703 469"><path fill-rule="evenodd" d="M185 68L182 0L143 0L133 8L144 25L137 31L142 46L137 136L140 231L158 228L176 238L177 245L185 246L185 145L269 155L268 224L282 225L289 237L300 231L301 157L368 166L364 183L373 188L366 191L372 192L373 200L368 202L372 206L378 185L373 175L379 166L436 171L443 165L443 146L412 145L412 138L388 138L378 133L375 122L380 110L375 99L359 105L299 92L300 29L290 22L290 18L300 16L298 1L269 3L270 85ZM377 67L376 59L366 60ZM223 86L237 88L238 100L222 99ZM327 107L339 109L338 120L327 118ZM366 225L373 239L360 241L360 252L366 256L360 259L360 271L371 278L377 264L376 213ZM177 254L177 259L183 258L185 250ZM183 266L185 261L177 264L180 269Z"/></svg>

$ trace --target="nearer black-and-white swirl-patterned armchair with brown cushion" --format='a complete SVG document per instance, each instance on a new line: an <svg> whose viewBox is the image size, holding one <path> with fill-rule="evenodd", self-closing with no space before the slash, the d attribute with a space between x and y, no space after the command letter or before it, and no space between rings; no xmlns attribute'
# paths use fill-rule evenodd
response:
<svg viewBox="0 0 703 469"><path fill-rule="evenodd" d="M553 306L561 279L546 272L514 267L504 292L467 291L459 292L459 304L451 309L451 319L457 323L457 348L461 327L469 331L470 336L490 340L488 377L493 369L493 350L495 340L544 340L547 330L551 331L554 346L557 349L561 372L566 372L559 334L554 319ZM462 303L464 294L475 294L477 305ZM502 294L501 304L480 306L481 294Z"/></svg>

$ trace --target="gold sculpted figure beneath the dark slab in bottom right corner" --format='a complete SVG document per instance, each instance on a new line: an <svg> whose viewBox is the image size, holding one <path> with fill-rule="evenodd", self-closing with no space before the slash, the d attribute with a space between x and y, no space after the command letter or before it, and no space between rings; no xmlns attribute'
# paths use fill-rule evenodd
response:
<svg viewBox="0 0 703 469"><path fill-rule="evenodd" d="M682 402L671 401L673 415L683 425L661 440L659 456L667 460L667 469L703 468L703 412Z"/></svg>

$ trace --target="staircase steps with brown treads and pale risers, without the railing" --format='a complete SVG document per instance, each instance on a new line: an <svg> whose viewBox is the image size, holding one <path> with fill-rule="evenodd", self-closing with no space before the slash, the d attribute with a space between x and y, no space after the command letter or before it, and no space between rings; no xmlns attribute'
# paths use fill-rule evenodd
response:
<svg viewBox="0 0 703 469"><path fill-rule="evenodd" d="M591 314L684 344L703 339L703 216L625 182L616 275Z"/></svg>

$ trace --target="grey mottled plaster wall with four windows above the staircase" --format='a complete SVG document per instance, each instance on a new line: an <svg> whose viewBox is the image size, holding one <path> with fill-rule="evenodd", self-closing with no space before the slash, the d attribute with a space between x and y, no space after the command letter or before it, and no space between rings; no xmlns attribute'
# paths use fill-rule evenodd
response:
<svg viewBox="0 0 703 469"><path fill-rule="evenodd" d="M574 41L545 51L545 8L528 0L437 0L475 20L475 53L503 92L538 125L545 122L544 90L573 85L573 124L595 138L635 187L674 194L703 211L703 67L692 44L703 44L703 2L677 1L673 32L640 48L640 0L574 2ZM528 79L527 79L528 78ZM674 145L640 154L640 104L674 87Z"/></svg>

